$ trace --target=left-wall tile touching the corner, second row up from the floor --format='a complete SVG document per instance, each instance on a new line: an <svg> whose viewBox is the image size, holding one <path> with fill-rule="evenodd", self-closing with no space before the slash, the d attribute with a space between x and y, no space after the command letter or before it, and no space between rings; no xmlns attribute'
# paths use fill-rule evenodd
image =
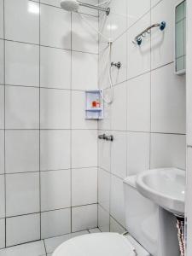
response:
<svg viewBox="0 0 192 256"><path fill-rule="evenodd" d="M72 170L72 206L97 203L97 168Z"/></svg>

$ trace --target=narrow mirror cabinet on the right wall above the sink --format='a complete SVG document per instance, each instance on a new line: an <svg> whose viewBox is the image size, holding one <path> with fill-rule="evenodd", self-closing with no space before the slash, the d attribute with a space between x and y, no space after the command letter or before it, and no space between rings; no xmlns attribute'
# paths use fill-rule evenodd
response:
<svg viewBox="0 0 192 256"><path fill-rule="evenodd" d="M175 9L175 71L184 74L186 69L186 1Z"/></svg>

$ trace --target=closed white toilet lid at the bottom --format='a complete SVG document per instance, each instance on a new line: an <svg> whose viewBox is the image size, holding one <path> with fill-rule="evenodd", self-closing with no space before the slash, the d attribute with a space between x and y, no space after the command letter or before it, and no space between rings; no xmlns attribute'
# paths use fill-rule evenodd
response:
<svg viewBox="0 0 192 256"><path fill-rule="evenodd" d="M57 247L53 256L136 256L136 251L125 236L99 233L77 236Z"/></svg>

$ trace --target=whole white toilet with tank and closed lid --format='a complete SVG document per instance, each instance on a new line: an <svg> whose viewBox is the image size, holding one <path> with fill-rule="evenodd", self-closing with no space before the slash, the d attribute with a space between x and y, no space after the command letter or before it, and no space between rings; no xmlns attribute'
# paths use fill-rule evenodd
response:
<svg viewBox="0 0 192 256"><path fill-rule="evenodd" d="M124 191L129 235L96 233L77 236L63 242L53 256L177 256L177 253L165 252L164 244L160 242L160 216L163 214L160 207L138 193L136 176L125 178Z"/></svg>

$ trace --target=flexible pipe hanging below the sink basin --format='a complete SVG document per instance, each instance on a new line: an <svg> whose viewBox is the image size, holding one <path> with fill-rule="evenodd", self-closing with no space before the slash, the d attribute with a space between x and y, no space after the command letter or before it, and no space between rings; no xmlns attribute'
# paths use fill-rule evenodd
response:
<svg viewBox="0 0 192 256"><path fill-rule="evenodd" d="M177 223L177 236L178 236L178 243L179 243L179 249L181 252L181 256L184 256L185 251L185 243L184 243L184 218L177 217L176 220Z"/></svg>

